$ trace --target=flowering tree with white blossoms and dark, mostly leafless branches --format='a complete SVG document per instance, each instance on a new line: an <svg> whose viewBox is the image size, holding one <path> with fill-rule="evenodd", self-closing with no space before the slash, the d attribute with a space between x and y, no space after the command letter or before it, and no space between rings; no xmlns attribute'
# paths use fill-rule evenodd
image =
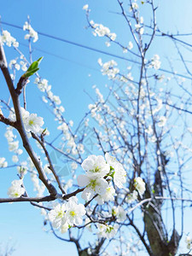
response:
<svg viewBox="0 0 192 256"><path fill-rule="evenodd" d="M27 61L16 39L2 32L0 66L12 102L1 100L0 121L7 125L5 137L19 178L11 183L9 198L0 198L0 202L29 201L39 207L53 234L74 242L79 255L112 255L112 244L116 255L142 251L173 256L188 232L183 230L184 207L191 203L189 183L184 180L191 159L191 73L180 49L187 43L177 39L179 34L160 31L153 0L117 3L130 41L119 42L116 33L91 20L86 4L87 27L94 36L106 38L108 47L119 47L125 58L131 55L133 65L123 73L116 61L98 60L112 85L105 89L106 96L94 87L96 99L75 128L73 121L65 118L60 97L38 74L42 58L32 62L31 51ZM151 20L146 17L146 23L143 8L150 12ZM32 49L38 33L29 20L23 29ZM156 38L172 41L183 64L182 75L175 73L174 67L169 76L160 68L160 56L150 52ZM15 48L20 62L19 58L11 60L8 67L5 45ZM15 72L20 67L23 73L15 85ZM44 119L26 110L26 84L33 75L43 101L55 115L55 127L61 131L51 142ZM91 152L86 149L89 134L96 145ZM55 165L53 154L62 156L63 166L70 165L68 180L63 176L65 170ZM4 157L0 167L9 167ZM35 196L27 193L26 175L32 177ZM171 219L168 224L164 212ZM89 232L92 236L88 240ZM186 242L190 250L189 236Z"/></svg>

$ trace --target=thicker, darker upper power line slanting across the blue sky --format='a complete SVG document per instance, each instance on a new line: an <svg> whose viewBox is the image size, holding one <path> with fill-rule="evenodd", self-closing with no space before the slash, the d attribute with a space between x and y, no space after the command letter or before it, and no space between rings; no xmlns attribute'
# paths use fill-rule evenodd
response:
<svg viewBox="0 0 192 256"><path fill-rule="evenodd" d="M2 24L4 24L4 25L7 25L7 26L13 26L13 27L15 27L15 28L18 28L18 29L23 30L23 27L22 27L22 26L18 26L18 25L15 25L15 24L11 24L11 23L8 23L8 22L2 21L2 20L1 20L0 23L2 23ZM104 51L104 50L102 50L102 49L92 48L92 47L90 47L90 46L87 46L87 45L84 45L84 44L75 43L75 42L69 41L69 40L67 40L67 39L65 39L65 38L55 37L55 36L53 36L53 35L49 35L49 34L44 33L44 32L39 32L39 31L37 31L37 32L38 32L39 35L42 35L42 36L44 36L44 37L46 37L46 38L52 38L52 39L55 39L55 40L57 40L57 41L61 41L61 42L67 43L67 44L73 44L74 46L78 46L78 47L81 47L81 48L84 48L84 49L90 49L90 50L92 50L92 51L99 52L99 53L101 53L101 54L103 54L103 55L113 56L113 57L118 58L118 59L120 59L120 60L130 61L130 62L135 63L135 64L141 64L141 63L138 62L138 61L133 61L133 60L131 60L131 59L128 59L128 58L125 58L125 57L122 57L122 56L119 56L119 55L114 55L113 53L109 53L109 52ZM163 68L160 68L159 70L162 71L162 72L165 72L165 73L173 74L172 71L169 71L169 70L166 70L166 69L163 69ZM184 78L184 79L190 79L190 80L192 80L192 78L190 78L190 77L188 77L188 76L185 76L185 75L183 75L183 74L180 74L180 73L175 73L175 75L178 76L178 77L182 77L182 78Z"/></svg>

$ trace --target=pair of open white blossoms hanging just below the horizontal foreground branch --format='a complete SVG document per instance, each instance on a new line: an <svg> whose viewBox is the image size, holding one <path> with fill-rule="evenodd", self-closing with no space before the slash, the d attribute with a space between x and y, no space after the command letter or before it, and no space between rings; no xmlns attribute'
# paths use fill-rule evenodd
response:
<svg viewBox="0 0 192 256"><path fill-rule="evenodd" d="M49 221L53 228L60 229L61 233L65 233L71 226L82 224L85 213L84 205L79 204L78 198L73 196L67 203L57 204L49 212Z"/></svg>

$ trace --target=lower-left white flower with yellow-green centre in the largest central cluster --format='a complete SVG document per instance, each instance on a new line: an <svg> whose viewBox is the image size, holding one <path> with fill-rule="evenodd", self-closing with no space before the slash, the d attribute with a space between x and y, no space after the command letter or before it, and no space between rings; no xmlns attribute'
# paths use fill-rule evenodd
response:
<svg viewBox="0 0 192 256"><path fill-rule="evenodd" d="M98 177L97 175L79 175L78 184L80 187L85 187L81 197L86 201L92 199L96 194L105 194L106 189L108 188L108 182L104 178Z"/></svg>

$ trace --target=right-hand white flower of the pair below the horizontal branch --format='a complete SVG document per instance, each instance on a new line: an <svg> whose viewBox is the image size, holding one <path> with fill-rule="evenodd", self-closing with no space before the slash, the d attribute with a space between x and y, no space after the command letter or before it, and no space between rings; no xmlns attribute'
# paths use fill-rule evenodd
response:
<svg viewBox="0 0 192 256"><path fill-rule="evenodd" d="M66 217L67 222L70 225L79 225L82 224L82 217L85 215L86 211L84 209L84 205L78 204L77 197L73 196L69 199L66 205Z"/></svg>

